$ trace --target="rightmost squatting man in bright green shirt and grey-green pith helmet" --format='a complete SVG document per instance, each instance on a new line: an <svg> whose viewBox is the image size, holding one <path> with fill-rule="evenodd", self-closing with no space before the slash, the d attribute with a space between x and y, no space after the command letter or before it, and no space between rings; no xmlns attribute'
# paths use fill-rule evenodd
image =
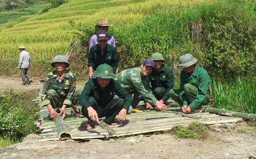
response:
<svg viewBox="0 0 256 159"><path fill-rule="evenodd" d="M211 79L207 71L195 65L197 59L190 54L180 57L180 89L170 90L170 96L182 106L182 111L189 114L192 110L202 109L209 103Z"/></svg>

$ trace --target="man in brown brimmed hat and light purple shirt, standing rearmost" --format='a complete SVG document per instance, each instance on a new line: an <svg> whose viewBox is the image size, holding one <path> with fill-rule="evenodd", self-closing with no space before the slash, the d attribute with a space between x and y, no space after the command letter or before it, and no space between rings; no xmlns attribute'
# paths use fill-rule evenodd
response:
<svg viewBox="0 0 256 159"><path fill-rule="evenodd" d="M95 26L95 28L97 28L97 29L99 29L101 31L106 31L107 32L109 30L109 26L112 26L112 25L109 25L109 22L107 21L107 19L100 19L99 20L99 24L97 24ZM90 40L89 50L91 49L91 47L93 45L96 45L97 43L98 43L97 35L93 35L91 37L91 40ZM107 43L109 45L112 45L113 47L116 47L116 41L115 41L114 36L109 34L108 37L107 37Z"/></svg>

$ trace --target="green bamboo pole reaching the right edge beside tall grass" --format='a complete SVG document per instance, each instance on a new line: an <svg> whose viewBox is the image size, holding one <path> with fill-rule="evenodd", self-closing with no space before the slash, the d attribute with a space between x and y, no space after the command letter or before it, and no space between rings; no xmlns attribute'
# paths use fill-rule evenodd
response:
<svg viewBox="0 0 256 159"><path fill-rule="evenodd" d="M256 119L256 114L247 114L243 112L235 112L235 111L228 111L226 109L217 109L217 108L211 108L211 107L204 107L204 112L211 112L216 114L222 114L226 116L234 116L244 119Z"/></svg>

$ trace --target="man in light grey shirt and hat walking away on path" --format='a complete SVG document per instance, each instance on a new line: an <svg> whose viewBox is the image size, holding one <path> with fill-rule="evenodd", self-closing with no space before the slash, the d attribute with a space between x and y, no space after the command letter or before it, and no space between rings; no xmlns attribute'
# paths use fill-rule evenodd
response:
<svg viewBox="0 0 256 159"><path fill-rule="evenodd" d="M19 65L18 69L21 69L21 78L23 81L23 85L28 85L29 83L32 83L32 79L28 75L28 69L31 65L30 55L28 52L25 51L24 45L19 46L19 50L21 54L19 54ZM26 81L28 79L28 81Z"/></svg>

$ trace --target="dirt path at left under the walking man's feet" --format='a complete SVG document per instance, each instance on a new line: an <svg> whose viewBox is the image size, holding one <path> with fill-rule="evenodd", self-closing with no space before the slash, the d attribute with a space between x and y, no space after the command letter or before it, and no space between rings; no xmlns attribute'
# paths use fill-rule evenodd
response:
<svg viewBox="0 0 256 159"><path fill-rule="evenodd" d="M29 91L42 88L43 83L34 81L31 85L23 86L21 78L0 76L0 91L13 89L15 91Z"/></svg>

